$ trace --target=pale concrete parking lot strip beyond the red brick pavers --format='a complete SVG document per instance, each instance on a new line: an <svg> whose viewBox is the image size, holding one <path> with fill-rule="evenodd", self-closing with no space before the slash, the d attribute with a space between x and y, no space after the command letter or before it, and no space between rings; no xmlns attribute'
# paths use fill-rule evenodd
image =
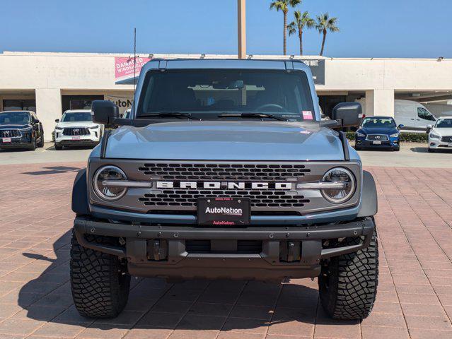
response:
<svg viewBox="0 0 452 339"><path fill-rule="evenodd" d="M37 148L35 151L0 150L0 165L86 162L91 149L84 147L55 150L53 143L46 143L44 148ZM452 168L452 150L428 153L425 143L402 143L400 152L360 150L359 155L365 166Z"/></svg>

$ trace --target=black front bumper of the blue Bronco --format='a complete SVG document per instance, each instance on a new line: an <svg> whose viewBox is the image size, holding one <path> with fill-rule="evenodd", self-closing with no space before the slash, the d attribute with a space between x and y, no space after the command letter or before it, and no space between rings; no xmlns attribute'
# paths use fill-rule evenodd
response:
<svg viewBox="0 0 452 339"><path fill-rule="evenodd" d="M81 246L127 258L130 274L182 280L314 278L320 274L321 259L369 246L374 228L372 218L361 218L337 225L245 228L130 225L82 217L77 217L74 222L75 234ZM111 246L88 242L84 234L122 237L125 245ZM323 248L326 239L345 237L361 237L362 241L354 246ZM186 243L193 240L206 240L212 244L221 244L220 247L228 247L230 242L253 240L262 242L262 248L259 253L193 253L187 250L186 246ZM154 243L166 246L162 251L163 256L158 256L157 260L150 259L152 251L155 251L155 248L150 249L150 246ZM286 244L295 244L298 259L282 260L282 248Z"/></svg>

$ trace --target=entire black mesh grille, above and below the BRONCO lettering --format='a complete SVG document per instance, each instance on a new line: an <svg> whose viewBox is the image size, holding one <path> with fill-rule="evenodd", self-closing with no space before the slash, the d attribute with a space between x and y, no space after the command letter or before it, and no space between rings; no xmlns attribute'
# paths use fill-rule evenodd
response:
<svg viewBox="0 0 452 339"><path fill-rule="evenodd" d="M294 164L212 164L212 163L145 163L139 172L170 182L286 182L311 172L305 165ZM144 194L138 200L145 206L196 208L197 198L227 196L250 198L253 208L301 208L309 203L303 196L278 189L161 189Z"/></svg>

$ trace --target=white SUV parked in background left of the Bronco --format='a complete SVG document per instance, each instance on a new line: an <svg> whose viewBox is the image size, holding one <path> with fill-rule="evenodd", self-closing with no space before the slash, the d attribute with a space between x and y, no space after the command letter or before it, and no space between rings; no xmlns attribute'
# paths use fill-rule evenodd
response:
<svg viewBox="0 0 452 339"><path fill-rule="evenodd" d="M55 122L55 150L64 146L97 145L102 137L103 125L93 122L89 109L70 109Z"/></svg>

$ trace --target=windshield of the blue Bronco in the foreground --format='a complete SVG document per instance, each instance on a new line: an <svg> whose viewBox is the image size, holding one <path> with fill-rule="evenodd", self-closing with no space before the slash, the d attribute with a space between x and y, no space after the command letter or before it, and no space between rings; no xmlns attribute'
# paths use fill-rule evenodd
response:
<svg viewBox="0 0 452 339"><path fill-rule="evenodd" d="M266 70L170 70L149 72L137 117L161 112L218 114L261 112L289 120L315 120L306 73ZM265 118L262 118L265 119Z"/></svg>

